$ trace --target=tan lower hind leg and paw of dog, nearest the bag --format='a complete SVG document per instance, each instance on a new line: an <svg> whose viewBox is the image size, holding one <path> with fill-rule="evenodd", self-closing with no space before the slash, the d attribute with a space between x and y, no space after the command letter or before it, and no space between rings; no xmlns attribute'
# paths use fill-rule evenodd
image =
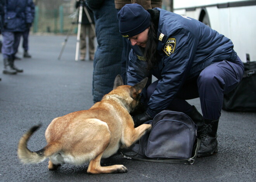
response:
<svg viewBox="0 0 256 182"><path fill-rule="evenodd" d="M112 165L112 166L106 166L102 167L100 165L100 159L102 157L102 153L98 155L96 158L91 160L87 173L91 174L100 174L100 173L123 173L127 172L127 168L123 165Z"/></svg>

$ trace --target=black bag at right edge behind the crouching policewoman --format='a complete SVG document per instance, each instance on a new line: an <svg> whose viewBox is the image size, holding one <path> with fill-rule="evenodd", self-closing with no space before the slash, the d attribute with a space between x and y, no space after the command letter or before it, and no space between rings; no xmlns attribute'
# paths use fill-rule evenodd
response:
<svg viewBox="0 0 256 182"><path fill-rule="evenodd" d="M256 61L244 63L243 79L234 90L224 94L222 109L256 112Z"/></svg>

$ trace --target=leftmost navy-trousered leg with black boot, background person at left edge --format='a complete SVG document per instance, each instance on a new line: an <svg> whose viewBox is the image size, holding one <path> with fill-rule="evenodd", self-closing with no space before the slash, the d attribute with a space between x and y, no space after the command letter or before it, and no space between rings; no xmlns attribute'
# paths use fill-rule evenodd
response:
<svg viewBox="0 0 256 182"><path fill-rule="evenodd" d="M14 33L13 32L2 32L3 36L3 73L4 74L16 74L17 71L11 67L11 59L13 54L13 44L14 44Z"/></svg>

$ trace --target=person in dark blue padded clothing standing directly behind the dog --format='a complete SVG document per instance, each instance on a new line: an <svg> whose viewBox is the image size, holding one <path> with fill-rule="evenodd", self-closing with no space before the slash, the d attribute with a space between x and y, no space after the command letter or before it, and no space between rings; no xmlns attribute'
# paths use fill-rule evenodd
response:
<svg viewBox="0 0 256 182"><path fill-rule="evenodd" d="M113 88L116 75L121 74L122 36L114 0L86 0L95 17L98 47L93 60L93 102L99 102Z"/></svg>

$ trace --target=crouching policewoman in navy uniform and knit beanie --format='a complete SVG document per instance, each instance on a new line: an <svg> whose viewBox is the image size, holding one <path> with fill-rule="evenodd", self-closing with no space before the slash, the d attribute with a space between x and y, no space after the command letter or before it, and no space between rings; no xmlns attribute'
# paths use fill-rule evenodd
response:
<svg viewBox="0 0 256 182"><path fill-rule="evenodd" d="M241 81L244 65L233 43L202 22L163 9L125 5L119 31L132 45L128 85L149 75L158 80L144 95L146 111L133 117L138 126L164 109L195 117L186 101L199 97L202 120L195 120L201 144L197 156L218 151L217 129L223 95Z"/></svg>

